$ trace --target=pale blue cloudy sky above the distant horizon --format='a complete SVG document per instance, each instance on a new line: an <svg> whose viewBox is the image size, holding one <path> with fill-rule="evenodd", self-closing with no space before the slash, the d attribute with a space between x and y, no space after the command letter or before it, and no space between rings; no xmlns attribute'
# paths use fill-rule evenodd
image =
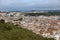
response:
<svg viewBox="0 0 60 40"><path fill-rule="evenodd" d="M60 0L0 0L0 10L60 10Z"/></svg>

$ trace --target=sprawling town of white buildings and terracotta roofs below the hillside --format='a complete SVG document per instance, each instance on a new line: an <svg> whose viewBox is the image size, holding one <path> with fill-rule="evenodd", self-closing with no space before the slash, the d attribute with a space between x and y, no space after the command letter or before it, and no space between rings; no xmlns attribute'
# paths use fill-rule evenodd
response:
<svg viewBox="0 0 60 40"><path fill-rule="evenodd" d="M18 24L43 37L60 40L60 16L24 16L21 12L0 13L0 20Z"/></svg>

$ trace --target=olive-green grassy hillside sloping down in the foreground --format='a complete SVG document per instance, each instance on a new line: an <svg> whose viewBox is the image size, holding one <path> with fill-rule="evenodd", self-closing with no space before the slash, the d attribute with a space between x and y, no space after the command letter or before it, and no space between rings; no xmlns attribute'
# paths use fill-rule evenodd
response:
<svg viewBox="0 0 60 40"><path fill-rule="evenodd" d="M28 31L12 23L5 23L0 20L0 40L54 40L53 38L43 38L32 31Z"/></svg>

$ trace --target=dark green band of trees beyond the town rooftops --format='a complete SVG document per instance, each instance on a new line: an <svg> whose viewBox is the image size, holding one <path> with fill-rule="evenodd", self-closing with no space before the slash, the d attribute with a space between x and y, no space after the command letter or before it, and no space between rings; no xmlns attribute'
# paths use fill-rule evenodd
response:
<svg viewBox="0 0 60 40"><path fill-rule="evenodd" d="M47 12L47 13L26 13L25 16L30 15L30 16L55 16L55 15L60 15L60 12Z"/></svg>

